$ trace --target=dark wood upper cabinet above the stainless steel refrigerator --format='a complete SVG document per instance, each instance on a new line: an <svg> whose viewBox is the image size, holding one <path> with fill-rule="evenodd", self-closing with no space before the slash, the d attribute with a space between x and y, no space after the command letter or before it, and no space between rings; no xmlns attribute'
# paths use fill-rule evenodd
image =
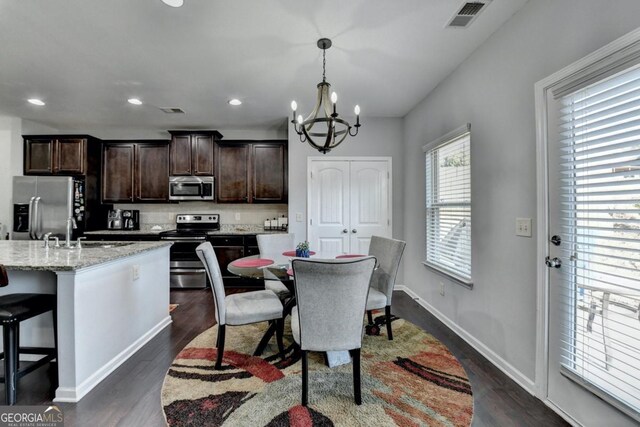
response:
<svg viewBox="0 0 640 427"><path fill-rule="evenodd" d="M98 146L88 135L24 136L24 174L86 175Z"/></svg>

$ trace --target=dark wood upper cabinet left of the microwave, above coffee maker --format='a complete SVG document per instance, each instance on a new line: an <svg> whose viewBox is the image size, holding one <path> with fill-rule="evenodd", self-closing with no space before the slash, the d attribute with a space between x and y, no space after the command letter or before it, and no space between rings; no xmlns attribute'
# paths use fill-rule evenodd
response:
<svg viewBox="0 0 640 427"><path fill-rule="evenodd" d="M108 142L103 145L103 203L168 200L168 141Z"/></svg>

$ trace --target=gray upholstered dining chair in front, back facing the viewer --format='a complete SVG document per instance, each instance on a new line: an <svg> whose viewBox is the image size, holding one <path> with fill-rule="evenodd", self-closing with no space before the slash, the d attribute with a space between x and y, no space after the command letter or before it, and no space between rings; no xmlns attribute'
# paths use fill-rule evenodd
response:
<svg viewBox="0 0 640 427"><path fill-rule="evenodd" d="M374 257L293 260L297 306L291 312L291 332L302 352L302 405L309 400L309 351L349 351L354 400L362 403L362 318L375 265Z"/></svg>

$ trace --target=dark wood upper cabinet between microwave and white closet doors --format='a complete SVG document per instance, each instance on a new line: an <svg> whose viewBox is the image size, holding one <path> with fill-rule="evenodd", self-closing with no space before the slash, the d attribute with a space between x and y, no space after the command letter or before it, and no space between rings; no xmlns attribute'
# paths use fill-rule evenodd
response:
<svg viewBox="0 0 640 427"><path fill-rule="evenodd" d="M286 203L286 141L225 141L216 144L219 203Z"/></svg>

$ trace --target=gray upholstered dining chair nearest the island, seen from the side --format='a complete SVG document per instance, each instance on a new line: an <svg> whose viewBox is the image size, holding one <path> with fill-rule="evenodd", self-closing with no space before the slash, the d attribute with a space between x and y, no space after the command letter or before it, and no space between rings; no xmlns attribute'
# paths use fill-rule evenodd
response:
<svg viewBox="0 0 640 427"><path fill-rule="evenodd" d="M224 339L226 326L248 325L250 323L275 321L276 340L278 350L284 355L282 335L284 319L282 315L282 303L280 298L272 291L251 291L232 295L225 295L220 264L211 243L205 242L196 248L198 257L204 264L204 268L211 282L213 302L216 308L216 322L218 323L218 340L216 348L218 354L215 369L220 369L224 353Z"/></svg>

